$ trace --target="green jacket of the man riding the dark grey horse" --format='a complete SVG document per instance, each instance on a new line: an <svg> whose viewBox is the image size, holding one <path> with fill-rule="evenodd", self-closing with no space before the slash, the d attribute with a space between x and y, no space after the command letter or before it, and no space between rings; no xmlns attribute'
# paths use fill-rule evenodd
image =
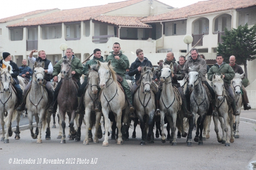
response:
<svg viewBox="0 0 256 170"><path fill-rule="evenodd" d="M71 60L71 70L75 71L74 78L80 81L80 77L82 76L83 65L80 59L76 58L75 55L72 55L74 58ZM63 58L67 58L67 56L62 57L62 59L54 65L53 67L53 77L58 76L61 71L61 63L63 62Z"/></svg>

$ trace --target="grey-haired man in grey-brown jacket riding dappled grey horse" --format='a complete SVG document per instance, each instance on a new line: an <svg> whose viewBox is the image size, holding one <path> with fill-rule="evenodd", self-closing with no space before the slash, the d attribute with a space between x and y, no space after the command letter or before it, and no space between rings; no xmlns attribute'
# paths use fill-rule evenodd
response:
<svg viewBox="0 0 256 170"><path fill-rule="evenodd" d="M209 83L207 82L206 80L206 71L207 71L207 65L206 65L206 61L205 59L201 58L199 55L198 55L198 50L196 48L192 48L190 50L190 54L191 56L188 57L188 60L187 62L184 64L184 68L183 68L183 71L184 71L184 74L185 74L185 79L188 80L189 77L188 77L188 72L189 72L189 67L192 67L193 65L202 65L203 67L203 70L202 70L202 76L201 77L201 81L206 84L207 88L209 89L210 93L211 93L211 96L212 96L212 107L209 107L209 109L213 109L214 110L214 106L215 106L215 93L214 93L214 90L213 88L211 88L211 86L209 85ZM189 95L189 88L187 86L186 88L186 91L185 91L185 97L186 97L186 100L187 100L187 106L188 106L188 110L190 108L190 95ZM211 110L210 110L211 111Z"/></svg>

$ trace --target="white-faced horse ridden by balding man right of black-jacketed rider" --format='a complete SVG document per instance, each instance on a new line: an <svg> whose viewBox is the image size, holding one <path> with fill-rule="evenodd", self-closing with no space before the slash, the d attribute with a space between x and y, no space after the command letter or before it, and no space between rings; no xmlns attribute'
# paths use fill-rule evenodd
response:
<svg viewBox="0 0 256 170"><path fill-rule="evenodd" d="M173 73L173 63L168 65L163 65L161 70L160 80L163 82L163 90L160 99L160 111L161 111L161 128L162 136L161 140L163 143L166 142L166 135L164 134L164 116L166 116L168 122L170 123L171 133L173 140L170 140L172 146L176 146L176 127L182 135L185 134L183 129L183 116L180 114L180 103L174 94L173 86L171 85L171 74ZM182 113L183 114L183 113Z"/></svg>

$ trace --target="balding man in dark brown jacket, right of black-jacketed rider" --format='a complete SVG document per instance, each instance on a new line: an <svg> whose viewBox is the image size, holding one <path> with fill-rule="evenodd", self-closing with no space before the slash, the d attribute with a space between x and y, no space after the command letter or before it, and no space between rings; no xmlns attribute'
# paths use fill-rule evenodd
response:
<svg viewBox="0 0 256 170"><path fill-rule="evenodd" d="M159 68L156 69L156 76L157 76L157 78L160 78L163 65L170 65L171 63L173 63L173 73L171 74L171 77L172 77L171 84L173 86L175 86L176 88L178 88L178 91L181 94L182 111L183 111L184 117L190 118L192 116L192 114L187 109L187 101L186 101L184 92L181 88L180 83L178 83L178 80L183 80L184 73L183 73L183 70L181 69L180 64L178 64L176 62L173 52L168 52L166 55L166 59L164 59L164 63L159 64ZM161 97L161 95L158 96L158 100L160 100L160 97Z"/></svg>

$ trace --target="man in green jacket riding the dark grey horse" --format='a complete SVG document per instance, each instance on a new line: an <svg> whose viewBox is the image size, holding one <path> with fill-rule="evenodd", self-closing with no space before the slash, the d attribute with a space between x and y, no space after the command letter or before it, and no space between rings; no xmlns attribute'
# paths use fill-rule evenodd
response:
<svg viewBox="0 0 256 170"><path fill-rule="evenodd" d="M72 76L77 80L77 84L78 87L81 86L80 83L80 77L82 75L82 69L83 69L83 65L82 62L79 58L76 58L75 55L72 55L72 49L71 48L67 48L66 49L66 56L62 57L62 59L54 65L53 67L53 81L54 82L58 82L58 75L61 71L61 63L63 62L63 59L67 59L69 57L72 57L71 59L71 68L72 68ZM52 105L49 109L49 112L52 114L55 114L57 111L57 107L58 107L58 94L59 94L59 90L60 90L60 86L62 84L62 79L60 80L60 82L58 83L58 85L56 86L55 90L54 90L54 95L53 95L53 102Z"/></svg>

